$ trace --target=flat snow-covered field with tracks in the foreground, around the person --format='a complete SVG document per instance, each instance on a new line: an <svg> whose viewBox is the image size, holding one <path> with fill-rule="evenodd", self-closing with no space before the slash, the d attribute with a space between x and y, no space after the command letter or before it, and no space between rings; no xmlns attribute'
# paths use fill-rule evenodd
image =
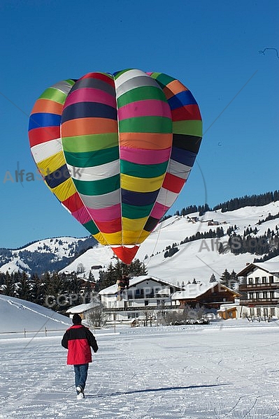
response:
<svg viewBox="0 0 279 419"><path fill-rule="evenodd" d="M278 321L116 332L95 333L83 400L61 335L0 335L0 418L279 418Z"/></svg>

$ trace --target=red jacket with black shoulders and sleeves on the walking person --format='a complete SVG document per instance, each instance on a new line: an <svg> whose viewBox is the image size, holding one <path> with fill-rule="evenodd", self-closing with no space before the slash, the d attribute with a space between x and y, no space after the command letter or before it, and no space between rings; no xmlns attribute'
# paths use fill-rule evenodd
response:
<svg viewBox="0 0 279 419"><path fill-rule="evenodd" d="M66 330L62 346L68 349L67 364L80 365L92 362L91 348L98 351L98 345L92 332L83 325L73 325Z"/></svg>

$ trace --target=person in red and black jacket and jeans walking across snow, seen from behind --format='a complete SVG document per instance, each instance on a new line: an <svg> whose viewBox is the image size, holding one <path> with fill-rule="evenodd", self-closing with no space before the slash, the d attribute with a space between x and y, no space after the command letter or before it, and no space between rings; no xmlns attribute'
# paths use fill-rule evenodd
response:
<svg viewBox="0 0 279 419"><path fill-rule="evenodd" d="M78 314L73 315L73 325L66 330L61 344L68 349L67 364L74 368L77 399L83 399L88 366L92 362L91 348L96 353L98 345L92 332L81 324Z"/></svg>

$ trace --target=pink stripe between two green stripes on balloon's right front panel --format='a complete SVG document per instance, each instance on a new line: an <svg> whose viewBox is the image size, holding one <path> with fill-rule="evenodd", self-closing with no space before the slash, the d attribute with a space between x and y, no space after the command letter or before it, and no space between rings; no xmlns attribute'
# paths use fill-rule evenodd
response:
<svg viewBox="0 0 279 419"><path fill-rule="evenodd" d="M156 99L146 99L145 101L128 103L128 105L118 109L118 119L120 121L134 117L171 118L169 103Z"/></svg>

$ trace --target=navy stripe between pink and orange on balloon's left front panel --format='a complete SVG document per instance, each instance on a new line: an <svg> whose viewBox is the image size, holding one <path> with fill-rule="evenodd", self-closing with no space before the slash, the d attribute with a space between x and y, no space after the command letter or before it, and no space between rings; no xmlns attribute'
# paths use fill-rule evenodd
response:
<svg viewBox="0 0 279 419"><path fill-rule="evenodd" d="M117 110L97 102L78 102L67 106L62 113L62 124L77 118L107 118L117 121Z"/></svg>

